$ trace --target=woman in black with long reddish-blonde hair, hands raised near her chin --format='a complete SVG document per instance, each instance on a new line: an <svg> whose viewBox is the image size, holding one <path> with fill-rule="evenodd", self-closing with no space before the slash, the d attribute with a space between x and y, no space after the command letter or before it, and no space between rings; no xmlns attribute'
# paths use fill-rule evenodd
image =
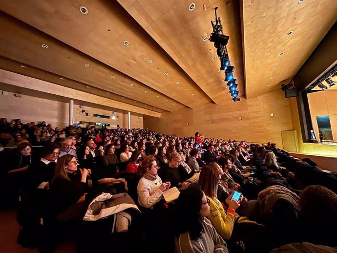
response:
<svg viewBox="0 0 337 253"><path fill-rule="evenodd" d="M51 181L51 205L54 214L60 214L70 206L84 202L86 178L90 170L77 170L77 160L73 155L63 155L56 163Z"/></svg>

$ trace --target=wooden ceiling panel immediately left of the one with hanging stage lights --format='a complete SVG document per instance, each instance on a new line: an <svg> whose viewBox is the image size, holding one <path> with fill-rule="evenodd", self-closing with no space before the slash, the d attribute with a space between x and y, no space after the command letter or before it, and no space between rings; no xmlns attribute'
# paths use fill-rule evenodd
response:
<svg viewBox="0 0 337 253"><path fill-rule="evenodd" d="M39 12L37 16L43 19L46 17L44 9L38 8L41 1L31 0L29 3L35 6L31 7L32 13ZM79 11L81 5L88 9L87 15ZM61 1L53 13L49 12L50 17L44 26L35 21L34 15L25 15L20 7L13 8L11 3L5 4L2 9L181 104L196 107L211 101L116 1ZM129 45L125 46L124 41L128 41ZM154 67L155 62L160 67ZM164 76L165 72L169 75ZM176 82L184 87L176 85ZM188 92L183 92L186 88ZM194 97L191 94L195 94Z"/></svg>

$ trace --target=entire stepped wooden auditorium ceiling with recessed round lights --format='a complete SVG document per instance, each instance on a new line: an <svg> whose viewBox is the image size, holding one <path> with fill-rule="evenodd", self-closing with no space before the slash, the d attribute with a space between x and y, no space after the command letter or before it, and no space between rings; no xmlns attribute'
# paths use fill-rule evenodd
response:
<svg viewBox="0 0 337 253"><path fill-rule="evenodd" d="M248 99L291 81L337 20L336 0L0 0L0 68L157 112L218 105L215 6Z"/></svg>

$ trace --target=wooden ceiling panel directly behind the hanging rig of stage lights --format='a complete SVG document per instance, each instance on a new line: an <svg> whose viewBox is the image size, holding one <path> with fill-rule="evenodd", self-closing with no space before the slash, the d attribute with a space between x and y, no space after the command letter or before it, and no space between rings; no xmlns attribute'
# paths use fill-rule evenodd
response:
<svg viewBox="0 0 337 253"><path fill-rule="evenodd" d="M194 1L196 7L188 10L190 2L167 1L158 6L156 0L119 1L128 13L158 42L206 94L220 104L231 99L223 89L222 77L218 73L219 60L212 61L216 49L203 38L211 33L214 7L218 6L224 32L231 37L228 50L235 66L234 77L242 82L238 90L244 94L244 77L241 50L240 17L238 2ZM169 25L168 25L169 24ZM239 45L239 46L238 46Z"/></svg>

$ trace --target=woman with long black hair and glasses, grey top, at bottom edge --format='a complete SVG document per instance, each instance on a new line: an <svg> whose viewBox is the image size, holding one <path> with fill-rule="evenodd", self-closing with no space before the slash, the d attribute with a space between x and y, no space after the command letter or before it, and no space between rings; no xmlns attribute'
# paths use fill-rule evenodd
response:
<svg viewBox="0 0 337 253"><path fill-rule="evenodd" d="M210 220L210 199L199 188L182 191L177 200L176 253L228 253Z"/></svg>

